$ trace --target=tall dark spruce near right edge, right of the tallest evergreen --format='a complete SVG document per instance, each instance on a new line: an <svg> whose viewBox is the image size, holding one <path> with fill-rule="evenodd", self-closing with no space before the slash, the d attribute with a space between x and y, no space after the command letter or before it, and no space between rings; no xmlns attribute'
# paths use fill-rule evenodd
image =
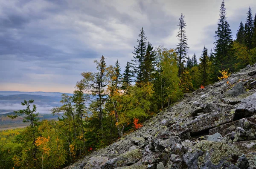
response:
<svg viewBox="0 0 256 169"><path fill-rule="evenodd" d="M245 45L250 50L253 48L252 40L253 40L253 16L251 9L249 7L249 11L247 13L246 27L245 27Z"/></svg>

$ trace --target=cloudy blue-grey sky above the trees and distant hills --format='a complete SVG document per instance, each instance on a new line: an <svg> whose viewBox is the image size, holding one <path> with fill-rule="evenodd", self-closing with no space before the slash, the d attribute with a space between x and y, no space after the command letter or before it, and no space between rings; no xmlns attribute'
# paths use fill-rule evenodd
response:
<svg viewBox="0 0 256 169"><path fill-rule="evenodd" d="M154 46L175 48L185 15L189 54L213 48L222 0L0 0L0 90L70 92L102 55L124 68L141 27ZM253 2L254 1L254 2ZM235 38L255 0L225 0Z"/></svg>

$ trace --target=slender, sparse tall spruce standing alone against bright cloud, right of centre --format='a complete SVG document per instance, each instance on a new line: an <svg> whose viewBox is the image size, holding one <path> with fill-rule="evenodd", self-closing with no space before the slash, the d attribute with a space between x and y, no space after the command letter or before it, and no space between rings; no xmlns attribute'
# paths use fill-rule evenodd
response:
<svg viewBox="0 0 256 169"><path fill-rule="evenodd" d="M184 69L184 63L186 62L184 59L185 59L187 51L189 49L189 46L187 43L188 39L186 37L186 32L185 32L186 23L184 21L184 17L185 16L181 13L181 16L179 18L180 21L177 25L177 26L179 26L179 32L177 35L179 43L177 44L177 49L176 49L176 52L178 55L177 63L178 63L178 67L179 67L178 77L181 76L182 71Z"/></svg>

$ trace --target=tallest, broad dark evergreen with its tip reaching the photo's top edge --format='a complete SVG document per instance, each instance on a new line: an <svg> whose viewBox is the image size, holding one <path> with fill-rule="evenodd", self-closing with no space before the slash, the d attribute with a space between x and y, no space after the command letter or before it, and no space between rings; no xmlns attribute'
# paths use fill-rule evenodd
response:
<svg viewBox="0 0 256 169"><path fill-rule="evenodd" d="M220 19L218 21L218 29L215 32L215 59L214 59L214 74L218 74L218 70L230 68L232 65L232 32L230 25L227 23L226 9L224 0L221 3ZM215 79L217 80L217 78Z"/></svg>

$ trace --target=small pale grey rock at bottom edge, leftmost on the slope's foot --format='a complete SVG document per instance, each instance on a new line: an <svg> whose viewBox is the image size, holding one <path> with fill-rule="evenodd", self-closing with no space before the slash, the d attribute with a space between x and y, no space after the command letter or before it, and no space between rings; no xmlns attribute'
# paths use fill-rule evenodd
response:
<svg viewBox="0 0 256 169"><path fill-rule="evenodd" d="M92 157L84 166L84 169L101 169L101 167L108 161L107 157Z"/></svg>

